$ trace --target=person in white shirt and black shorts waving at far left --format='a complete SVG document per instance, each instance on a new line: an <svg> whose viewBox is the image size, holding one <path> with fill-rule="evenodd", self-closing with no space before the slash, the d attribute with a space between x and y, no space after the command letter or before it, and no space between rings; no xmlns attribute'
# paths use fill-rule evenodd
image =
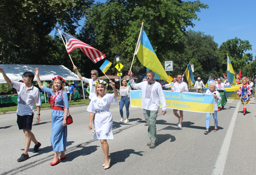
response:
<svg viewBox="0 0 256 175"><path fill-rule="evenodd" d="M6 82L11 85L12 88L15 88L18 93L18 107L17 107L17 124L19 129L23 129L23 132L26 136L25 140L25 149L22 156L17 159L18 162L23 162L29 159L28 150L31 144L31 141L35 143L33 152L38 152L38 148L41 146L41 143L37 142L34 134L31 132L32 122L34 117L34 105L37 110L37 122L40 122L40 106L41 98L39 90L33 86L32 81L35 75L32 72L25 72L23 74L23 82L16 82L10 80L3 68L0 68L0 72L3 74Z"/></svg>

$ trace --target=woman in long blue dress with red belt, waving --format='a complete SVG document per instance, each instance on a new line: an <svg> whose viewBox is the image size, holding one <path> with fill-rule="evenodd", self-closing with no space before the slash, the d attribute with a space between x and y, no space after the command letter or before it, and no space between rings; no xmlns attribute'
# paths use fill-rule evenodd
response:
<svg viewBox="0 0 256 175"><path fill-rule="evenodd" d="M39 71L35 68L35 76L39 88L50 93L52 109L52 135L51 144L54 151L54 158L50 165L56 165L60 160L66 159L65 150L67 146L67 116L69 112L68 94L65 92L65 79L60 76L52 78L52 89L42 85L39 78ZM60 157L59 155L60 151Z"/></svg>

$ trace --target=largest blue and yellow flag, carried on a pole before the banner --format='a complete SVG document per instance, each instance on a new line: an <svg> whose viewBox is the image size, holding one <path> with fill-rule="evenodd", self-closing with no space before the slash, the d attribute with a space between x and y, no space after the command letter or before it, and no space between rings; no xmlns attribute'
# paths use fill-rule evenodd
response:
<svg viewBox="0 0 256 175"><path fill-rule="evenodd" d="M142 32L139 36L139 45L135 51L139 61L144 67L154 71L158 75L160 75L161 80L170 80L168 75L166 74L161 62L157 58L157 55L148 39L144 27L142 28Z"/></svg>

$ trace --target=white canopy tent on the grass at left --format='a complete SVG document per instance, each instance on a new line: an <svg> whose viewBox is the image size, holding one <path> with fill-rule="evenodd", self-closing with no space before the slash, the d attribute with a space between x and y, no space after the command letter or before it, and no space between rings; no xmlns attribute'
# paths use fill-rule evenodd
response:
<svg viewBox="0 0 256 175"><path fill-rule="evenodd" d="M56 77L57 75L63 77L65 80L80 80L80 78L75 73L70 71L64 65L0 64L0 68L3 68L6 75L13 81L22 80L22 75L24 72L34 73L35 68L39 70L41 81L52 80L52 78ZM34 78L34 81L37 81L36 77ZM3 74L0 74L0 83L6 83ZM82 92L84 99L83 82Z"/></svg>

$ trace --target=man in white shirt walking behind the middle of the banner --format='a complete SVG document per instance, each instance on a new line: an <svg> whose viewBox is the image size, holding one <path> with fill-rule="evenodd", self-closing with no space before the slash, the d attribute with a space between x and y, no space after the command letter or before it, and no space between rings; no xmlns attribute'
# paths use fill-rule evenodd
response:
<svg viewBox="0 0 256 175"><path fill-rule="evenodd" d="M177 82L174 83L173 88L172 88L172 92L188 92L188 88L187 88L187 83L182 81L183 77L181 74L177 75ZM183 111L180 110L180 115L177 113L178 110L174 110L174 115L179 119L177 125L178 125L178 129L182 128L182 120L183 120Z"/></svg>

